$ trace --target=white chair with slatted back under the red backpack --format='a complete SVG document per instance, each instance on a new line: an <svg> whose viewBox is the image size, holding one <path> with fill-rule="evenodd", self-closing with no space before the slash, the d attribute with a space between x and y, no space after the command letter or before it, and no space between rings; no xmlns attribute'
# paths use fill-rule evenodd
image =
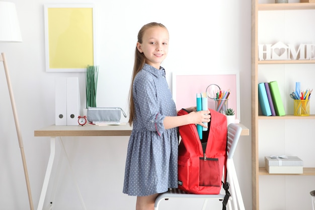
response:
<svg viewBox="0 0 315 210"><path fill-rule="evenodd" d="M227 126L227 161L226 161L226 168L227 168L227 181L229 182L229 192L230 198L227 202L226 208L229 210L245 210L243 198L239 186L239 181L237 174L235 172L235 167L233 163L233 154L235 149L238 145L239 138L241 135L242 128L234 123L231 123ZM223 169L224 170L224 169ZM224 174L224 173L223 173ZM224 191L224 190L223 190ZM225 191L224 191L225 193ZM154 210L159 210L159 204L162 200L169 200L172 198L184 198L186 199L204 199L204 203L202 206L202 210L206 208L207 201L209 199L219 199L223 200L225 194L190 194L186 193L179 189L169 189L168 192L161 193L157 196L154 204Z"/></svg>

